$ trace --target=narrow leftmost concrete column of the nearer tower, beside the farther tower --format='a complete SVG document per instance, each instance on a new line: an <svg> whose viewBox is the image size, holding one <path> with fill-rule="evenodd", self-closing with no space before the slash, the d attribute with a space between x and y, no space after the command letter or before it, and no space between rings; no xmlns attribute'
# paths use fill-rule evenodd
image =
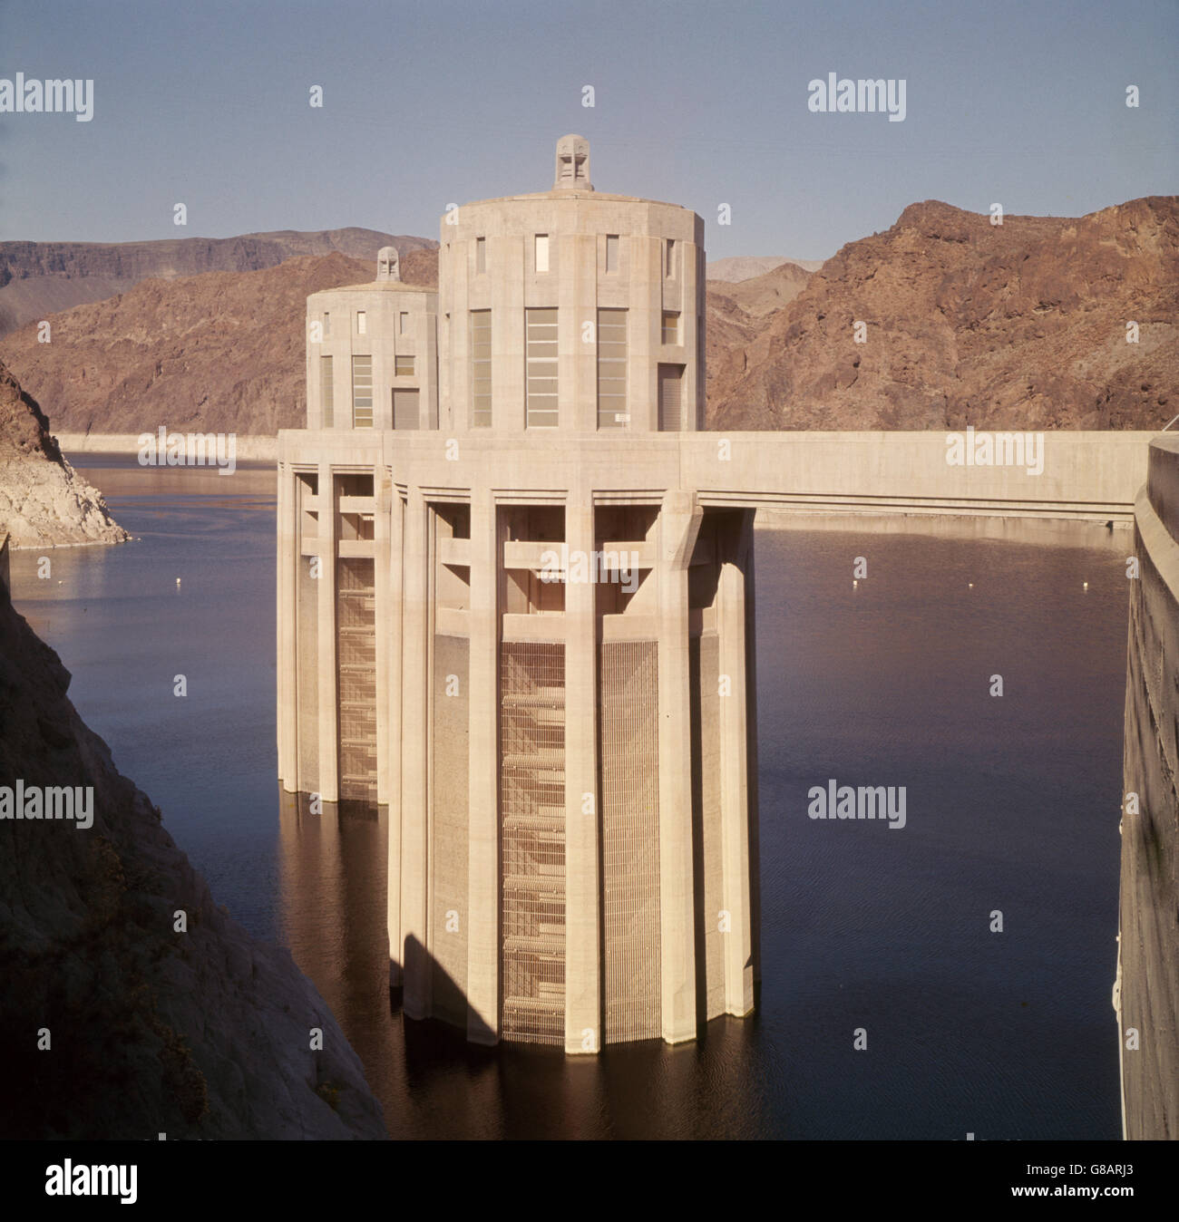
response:
<svg viewBox="0 0 1179 1222"><path fill-rule="evenodd" d="M386 710L388 734L380 761L386 772L389 794L389 982L400 985L405 967L405 942L401 934L401 606L404 582L404 506L396 485L390 486L389 503L389 567L384 615L378 617L377 631L386 635L389 657L388 689L377 684L378 710ZM378 545L379 546L379 545ZM382 604L378 602L378 610ZM380 638L378 637L378 640ZM379 712L378 712L379 716ZM379 731L378 731L379 733ZM379 739L378 739L379 749Z"/></svg>

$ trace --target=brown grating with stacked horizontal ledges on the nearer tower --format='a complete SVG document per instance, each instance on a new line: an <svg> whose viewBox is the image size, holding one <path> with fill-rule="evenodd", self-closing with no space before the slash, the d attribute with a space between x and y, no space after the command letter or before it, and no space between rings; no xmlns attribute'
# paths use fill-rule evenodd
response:
<svg viewBox="0 0 1179 1222"><path fill-rule="evenodd" d="M565 646L501 645L505 1040L565 1044Z"/></svg>

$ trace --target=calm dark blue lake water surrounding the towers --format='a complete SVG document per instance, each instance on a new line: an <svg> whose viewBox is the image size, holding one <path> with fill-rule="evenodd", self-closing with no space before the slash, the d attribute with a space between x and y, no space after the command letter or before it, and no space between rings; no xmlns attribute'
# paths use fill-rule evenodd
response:
<svg viewBox="0 0 1179 1222"><path fill-rule="evenodd" d="M17 607L216 899L316 981L393 1136L1120 1136L1126 532L760 530L760 1012L567 1061L390 1009L383 822L280 799L272 470L79 467L137 541L48 579L16 552ZM829 778L905 786L905 829L808 819Z"/></svg>

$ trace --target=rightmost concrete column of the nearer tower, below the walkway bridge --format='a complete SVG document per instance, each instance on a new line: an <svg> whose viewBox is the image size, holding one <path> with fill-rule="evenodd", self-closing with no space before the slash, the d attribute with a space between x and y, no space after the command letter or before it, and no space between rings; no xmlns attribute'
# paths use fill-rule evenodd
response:
<svg viewBox="0 0 1179 1222"><path fill-rule="evenodd" d="M750 809L748 730L746 725L745 573L752 550L752 513L723 536L724 556L717 591L717 628L722 687L720 711L720 863L722 904L729 913L724 946L725 1013L753 1009L753 964L750 947ZM722 558L722 557L718 557ZM709 918L712 914L709 914Z"/></svg>

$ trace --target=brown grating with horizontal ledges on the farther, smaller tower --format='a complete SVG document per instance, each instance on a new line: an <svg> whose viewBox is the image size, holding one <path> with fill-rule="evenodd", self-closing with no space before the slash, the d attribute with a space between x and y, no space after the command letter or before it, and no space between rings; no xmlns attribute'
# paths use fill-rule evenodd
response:
<svg viewBox="0 0 1179 1222"><path fill-rule="evenodd" d="M340 799L377 800L377 598L373 561L336 561Z"/></svg>

